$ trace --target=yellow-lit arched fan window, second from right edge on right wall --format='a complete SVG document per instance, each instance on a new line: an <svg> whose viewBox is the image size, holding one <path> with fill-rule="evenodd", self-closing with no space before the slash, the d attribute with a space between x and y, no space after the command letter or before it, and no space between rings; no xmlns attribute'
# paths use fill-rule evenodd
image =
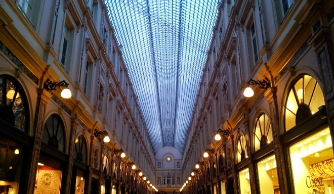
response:
<svg viewBox="0 0 334 194"><path fill-rule="evenodd" d="M271 122L266 114L261 114L256 120L254 129L254 148L258 151L273 140Z"/></svg>

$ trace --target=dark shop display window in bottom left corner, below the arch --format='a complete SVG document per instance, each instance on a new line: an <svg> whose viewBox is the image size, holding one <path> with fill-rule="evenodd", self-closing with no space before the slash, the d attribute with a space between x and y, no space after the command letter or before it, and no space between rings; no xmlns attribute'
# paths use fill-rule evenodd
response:
<svg viewBox="0 0 334 194"><path fill-rule="evenodd" d="M0 192L17 193L23 153L19 144L0 137Z"/></svg>

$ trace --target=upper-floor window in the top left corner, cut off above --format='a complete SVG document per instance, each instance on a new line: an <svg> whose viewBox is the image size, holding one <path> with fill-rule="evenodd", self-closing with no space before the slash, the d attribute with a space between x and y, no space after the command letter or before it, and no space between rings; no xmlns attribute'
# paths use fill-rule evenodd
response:
<svg viewBox="0 0 334 194"><path fill-rule="evenodd" d="M31 25L36 28L41 0L19 0L18 4Z"/></svg>

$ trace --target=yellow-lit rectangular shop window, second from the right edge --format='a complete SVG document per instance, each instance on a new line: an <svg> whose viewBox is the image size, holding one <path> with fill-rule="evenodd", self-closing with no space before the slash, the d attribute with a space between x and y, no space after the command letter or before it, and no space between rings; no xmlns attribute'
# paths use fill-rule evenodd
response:
<svg viewBox="0 0 334 194"><path fill-rule="evenodd" d="M275 156L272 155L258 162L260 193L279 194L279 184ZM303 192L297 192L303 193Z"/></svg>

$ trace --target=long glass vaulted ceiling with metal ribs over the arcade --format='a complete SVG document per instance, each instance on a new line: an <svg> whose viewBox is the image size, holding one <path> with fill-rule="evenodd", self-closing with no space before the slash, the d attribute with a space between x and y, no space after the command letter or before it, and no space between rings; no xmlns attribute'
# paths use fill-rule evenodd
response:
<svg viewBox="0 0 334 194"><path fill-rule="evenodd" d="M219 0L106 0L154 152L183 153Z"/></svg>

